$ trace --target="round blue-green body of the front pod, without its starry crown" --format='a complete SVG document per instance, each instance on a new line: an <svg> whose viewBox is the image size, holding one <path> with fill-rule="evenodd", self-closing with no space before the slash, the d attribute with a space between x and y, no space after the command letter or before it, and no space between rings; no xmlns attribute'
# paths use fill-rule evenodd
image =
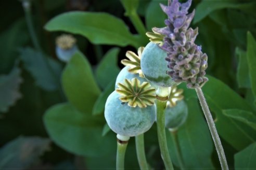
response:
<svg viewBox="0 0 256 170"><path fill-rule="evenodd" d="M122 136L137 136L147 132L156 119L156 105L131 107L112 92L105 105L105 119L112 131Z"/></svg>

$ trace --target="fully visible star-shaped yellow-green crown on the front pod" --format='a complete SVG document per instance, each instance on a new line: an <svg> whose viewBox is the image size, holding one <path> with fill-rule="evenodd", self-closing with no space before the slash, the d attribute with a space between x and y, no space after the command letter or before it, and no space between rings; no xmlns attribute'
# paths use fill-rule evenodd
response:
<svg viewBox="0 0 256 170"><path fill-rule="evenodd" d="M121 97L122 102L128 102L131 107L147 107L155 103L156 90L150 86L149 82L140 81L137 78L132 80L125 79L123 83L118 83L118 89L116 90Z"/></svg>

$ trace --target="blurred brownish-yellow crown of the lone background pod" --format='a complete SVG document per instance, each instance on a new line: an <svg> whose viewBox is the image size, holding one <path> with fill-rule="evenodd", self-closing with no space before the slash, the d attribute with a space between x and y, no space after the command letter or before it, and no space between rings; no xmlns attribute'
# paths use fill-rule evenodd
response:
<svg viewBox="0 0 256 170"><path fill-rule="evenodd" d="M63 50L71 49L75 43L76 39L69 34L62 34L56 38L56 45Z"/></svg>

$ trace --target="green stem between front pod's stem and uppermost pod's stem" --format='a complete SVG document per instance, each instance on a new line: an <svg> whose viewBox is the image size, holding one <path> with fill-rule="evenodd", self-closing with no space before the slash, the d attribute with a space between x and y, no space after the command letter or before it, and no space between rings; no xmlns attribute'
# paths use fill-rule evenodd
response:
<svg viewBox="0 0 256 170"><path fill-rule="evenodd" d="M135 136L135 143L136 143L136 153L137 153L139 167L140 169L148 170L149 167L147 164L145 149L144 149L144 134Z"/></svg>

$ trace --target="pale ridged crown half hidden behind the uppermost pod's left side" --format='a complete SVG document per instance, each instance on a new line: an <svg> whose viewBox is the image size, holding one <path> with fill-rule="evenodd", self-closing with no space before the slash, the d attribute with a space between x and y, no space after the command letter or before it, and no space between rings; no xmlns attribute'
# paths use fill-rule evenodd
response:
<svg viewBox="0 0 256 170"><path fill-rule="evenodd" d="M135 54L132 51L127 51L125 56L129 59L124 59L121 61L121 63L125 66L129 66L130 68L128 71L133 74L139 74L139 77L144 77L142 73L142 69L140 68L140 59L142 56L142 51L144 50L144 47L138 48L138 55Z"/></svg>

